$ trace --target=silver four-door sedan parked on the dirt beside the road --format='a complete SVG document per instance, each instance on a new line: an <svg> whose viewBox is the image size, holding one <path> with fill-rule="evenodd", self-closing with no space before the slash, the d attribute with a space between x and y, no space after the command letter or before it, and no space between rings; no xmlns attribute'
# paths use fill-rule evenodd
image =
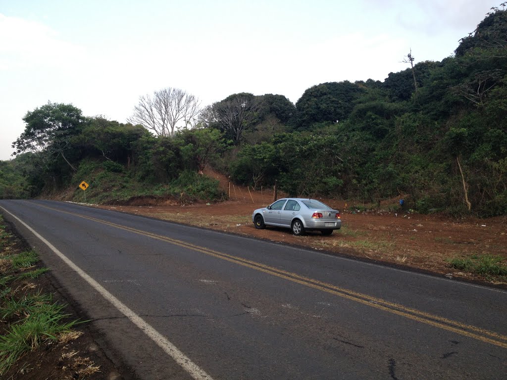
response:
<svg viewBox="0 0 507 380"><path fill-rule="evenodd" d="M315 199L284 198L252 213L252 222L256 229L267 225L287 227L296 236L305 231L320 231L322 235L331 235L342 226L340 211Z"/></svg>

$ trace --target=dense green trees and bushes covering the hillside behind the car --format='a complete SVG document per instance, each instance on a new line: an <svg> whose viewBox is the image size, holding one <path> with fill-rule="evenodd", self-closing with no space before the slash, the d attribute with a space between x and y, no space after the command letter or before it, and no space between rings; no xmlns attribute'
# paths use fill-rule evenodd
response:
<svg viewBox="0 0 507 380"><path fill-rule="evenodd" d="M384 82L319 84L296 104L282 95L233 94L174 136L87 118L69 104L48 103L24 121L16 159L1 164L0 197L93 178L119 199L219 200L216 183L196 174L211 164L244 184L276 180L291 195L403 197L420 212L503 215L507 13L494 8L441 62L418 62Z"/></svg>

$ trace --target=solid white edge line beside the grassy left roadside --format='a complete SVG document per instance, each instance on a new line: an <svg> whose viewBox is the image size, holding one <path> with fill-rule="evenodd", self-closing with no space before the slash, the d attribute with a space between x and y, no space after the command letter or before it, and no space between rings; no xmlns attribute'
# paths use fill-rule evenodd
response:
<svg viewBox="0 0 507 380"><path fill-rule="evenodd" d="M183 352L179 351L176 346L174 346L169 340L167 340L163 335L161 335L155 328L153 328L149 323L144 321L141 317L135 314L132 310L130 310L122 301L116 298L113 294L108 292L105 288L103 288L97 281L87 275L81 268L78 267L73 261L71 261L67 256L61 253L58 249L56 249L50 242L44 239L41 235L39 235L35 230L33 230L28 224L18 218L16 215L7 211L4 207L0 206L5 212L23 224L33 235L38 237L44 244L46 244L49 249L51 249L58 257L60 257L71 269L76 271L91 287L93 287L96 291L98 291L105 299L110 301L114 307L116 307L120 312L125 315L132 323L134 323L139 329L141 329L146 335L148 335L162 350L165 351L167 355L169 355L176 363L178 363L181 367L183 367L195 380L213 380L213 378L208 375L204 370L202 370L197 364L192 362L189 357L187 357Z"/></svg>

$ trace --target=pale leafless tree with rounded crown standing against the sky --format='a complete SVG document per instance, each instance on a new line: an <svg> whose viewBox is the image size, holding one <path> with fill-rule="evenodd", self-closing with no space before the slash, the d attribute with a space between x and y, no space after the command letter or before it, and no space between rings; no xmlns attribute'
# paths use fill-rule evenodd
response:
<svg viewBox="0 0 507 380"><path fill-rule="evenodd" d="M133 115L128 118L132 124L141 124L157 136L174 136L178 127L193 127L200 110L200 101L188 92L167 87L139 97Z"/></svg>

